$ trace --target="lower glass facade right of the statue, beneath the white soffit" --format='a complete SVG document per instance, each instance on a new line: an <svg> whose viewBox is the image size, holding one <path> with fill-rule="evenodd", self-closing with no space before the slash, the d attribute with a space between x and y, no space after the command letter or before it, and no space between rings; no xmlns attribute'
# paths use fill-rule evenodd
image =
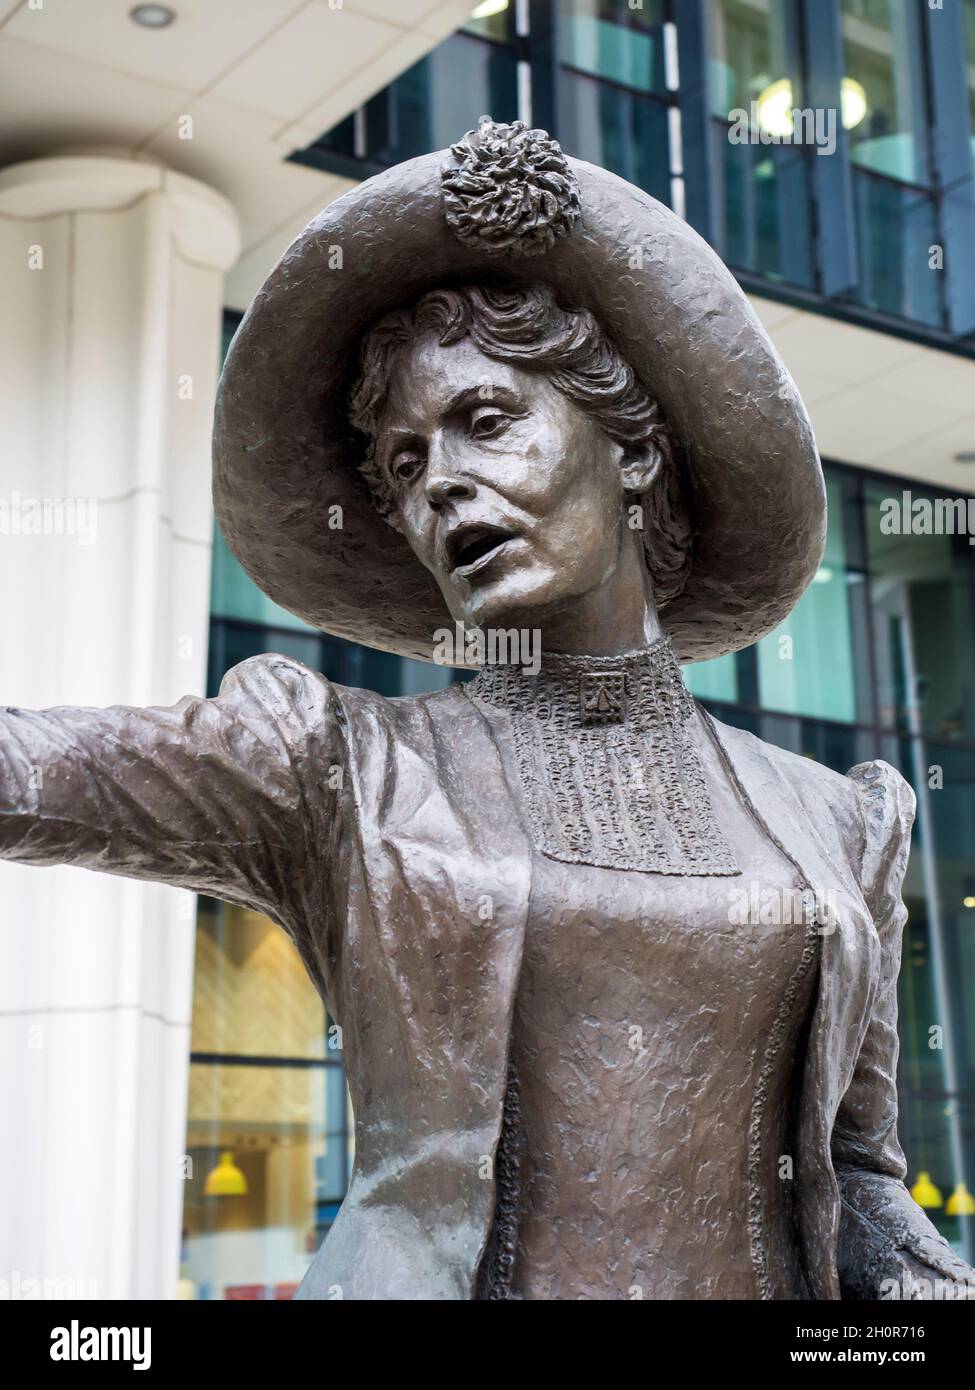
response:
<svg viewBox="0 0 975 1390"><path fill-rule="evenodd" d="M975 1168L975 557L965 535L887 534L905 488L933 500L917 482L830 464L826 482L826 553L803 599L754 648L688 667L687 684L718 719L840 773L883 758L917 792L900 1137L908 1186L930 1175L940 1205L928 1215L962 1250L972 1216L956 1211L958 1184Z"/></svg>

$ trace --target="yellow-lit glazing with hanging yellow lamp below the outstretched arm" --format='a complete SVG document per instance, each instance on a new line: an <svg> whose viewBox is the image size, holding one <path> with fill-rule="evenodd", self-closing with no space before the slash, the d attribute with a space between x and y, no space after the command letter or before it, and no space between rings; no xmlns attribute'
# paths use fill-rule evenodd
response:
<svg viewBox="0 0 975 1390"><path fill-rule="evenodd" d="M289 1298L345 1193L334 1044L291 940L203 899L196 929L182 1279L199 1298Z"/></svg>

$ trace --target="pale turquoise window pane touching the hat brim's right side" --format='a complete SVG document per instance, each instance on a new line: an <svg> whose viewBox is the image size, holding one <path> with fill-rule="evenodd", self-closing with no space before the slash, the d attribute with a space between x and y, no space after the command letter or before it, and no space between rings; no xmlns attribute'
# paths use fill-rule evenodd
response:
<svg viewBox="0 0 975 1390"><path fill-rule="evenodd" d="M857 717L850 584L843 531L843 482L826 482L826 552L793 612L758 644L762 706L818 719Z"/></svg>

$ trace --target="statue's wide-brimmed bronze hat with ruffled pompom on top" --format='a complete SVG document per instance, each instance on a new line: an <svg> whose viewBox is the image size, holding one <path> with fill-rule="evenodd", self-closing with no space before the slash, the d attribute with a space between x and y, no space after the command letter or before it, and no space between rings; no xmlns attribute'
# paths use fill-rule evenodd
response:
<svg viewBox="0 0 975 1390"><path fill-rule="evenodd" d="M213 492L243 569L313 627L431 659L452 620L357 470L349 391L363 332L441 284L545 282L590 309L659 402L686 468L694 559L661 610L680 660L747 646L790 612L826 532L798 392L697 232L544 131L487 120L366 179L285 252L220 382Z"/></svg>

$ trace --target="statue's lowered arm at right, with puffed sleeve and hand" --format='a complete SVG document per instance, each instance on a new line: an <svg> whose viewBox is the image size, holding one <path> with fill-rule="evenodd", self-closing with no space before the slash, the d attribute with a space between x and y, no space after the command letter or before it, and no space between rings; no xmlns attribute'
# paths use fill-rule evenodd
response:
<svg viewBox="0 0 975 1390"><path fill-rule="evenodd" d="M840 1190L837 1264L844 1298L932 1297L935 1280L975 1282L914 1201L897 1141L897 976L907 908L901 885L911 848L915 799L889 763L861 763L848 774L865 819L862 891L880 938L880 977L853 1080L833 1126ZM896 1280L894 1294L885 1280ZM926 1291L925 1291L926 1290Z"/></svg>

